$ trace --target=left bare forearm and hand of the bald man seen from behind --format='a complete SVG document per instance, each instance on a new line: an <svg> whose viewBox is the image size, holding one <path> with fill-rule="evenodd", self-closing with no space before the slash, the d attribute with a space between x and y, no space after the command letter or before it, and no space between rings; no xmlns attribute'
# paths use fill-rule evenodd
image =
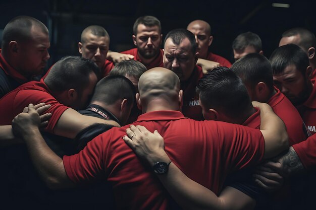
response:
<svg viewBox="0 0 316 210"><path fill-rule="evenodd" d="M12 121L13 133L25 142L32 162L47 186L52 189L74 186L66 174L63 160L47 146L39 126L40 117L32 104L27 112Z"/></svg>

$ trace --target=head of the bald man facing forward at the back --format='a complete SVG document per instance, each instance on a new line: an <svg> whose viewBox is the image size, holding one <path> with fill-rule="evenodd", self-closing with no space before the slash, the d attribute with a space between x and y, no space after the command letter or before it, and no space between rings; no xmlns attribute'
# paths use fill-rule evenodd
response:
<svg viewBox="0 0 316 210"><path fill-rule="evenodd" d="M213 42L213 36L210 35L210 25L205 21L195 20L189 23L187 30L194 34L197 44L196 51L200 53L200 58L205 59L208 47Z"/></svg>

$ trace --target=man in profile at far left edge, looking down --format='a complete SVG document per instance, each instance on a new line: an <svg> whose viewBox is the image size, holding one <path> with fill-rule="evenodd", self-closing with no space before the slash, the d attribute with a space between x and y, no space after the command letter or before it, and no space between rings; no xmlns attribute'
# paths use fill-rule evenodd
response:
<svg viewBox="0 0 316 210"><path fill-rule="evenodd" d="M49 59L48 29L39 20L18 16L5 27L0 54L0 98L41 75Z"/></svg>

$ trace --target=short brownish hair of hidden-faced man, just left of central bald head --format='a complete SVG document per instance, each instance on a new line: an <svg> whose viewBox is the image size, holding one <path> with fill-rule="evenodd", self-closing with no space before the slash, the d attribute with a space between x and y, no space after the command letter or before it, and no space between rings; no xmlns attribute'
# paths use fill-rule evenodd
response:
<svg viewBox="0 0 316 210"><path fill-rule="evenodd" d="M139 80L140 76L146 71L146 66L137 60L122 60L114 66L110 76L121 75L125 77L127 75Z"/></svg>

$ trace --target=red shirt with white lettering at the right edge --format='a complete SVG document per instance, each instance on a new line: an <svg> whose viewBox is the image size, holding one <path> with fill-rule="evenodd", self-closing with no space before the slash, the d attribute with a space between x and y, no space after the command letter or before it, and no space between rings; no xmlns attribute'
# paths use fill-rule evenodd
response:
<svg viewBox="0 0 316 210"><path fill-rule="evenodd" d="M316 86L315 80L310 80L313 84L313 89L311 91L308 99L302 104L297 106L297 110L302 116L307 129L311 132L311 134L316 133Z"/></svg>

